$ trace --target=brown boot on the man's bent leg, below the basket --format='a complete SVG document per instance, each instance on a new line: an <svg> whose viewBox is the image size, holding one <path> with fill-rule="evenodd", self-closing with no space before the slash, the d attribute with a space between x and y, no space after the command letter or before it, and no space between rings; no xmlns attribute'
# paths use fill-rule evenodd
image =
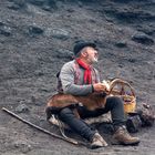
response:
<svg viewBox="0 0 155 155"><path fill-rule="evenodd" d="M123 145L136 145L140 143L140 138L131 136L125 126L120 126L114 133L113 138Z"/></svg>

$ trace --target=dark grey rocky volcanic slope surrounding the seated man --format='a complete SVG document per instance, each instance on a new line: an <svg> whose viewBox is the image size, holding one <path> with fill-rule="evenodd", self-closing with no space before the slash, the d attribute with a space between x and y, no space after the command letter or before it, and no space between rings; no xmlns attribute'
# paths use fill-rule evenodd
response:
<svg viewBox="0 0 155 155"><path fill-rule="evenodd" d="M96 42L103 79L122 78L137 104L155 105L154 0L1 0L0 107L56 132L44 106L55 93L55 74L72 59L78 40ZM19 107L19 105L23 105ZM44 135L0 112L0 154L154 154L155 132L137 133L137 147L90 151Z"/></svg>

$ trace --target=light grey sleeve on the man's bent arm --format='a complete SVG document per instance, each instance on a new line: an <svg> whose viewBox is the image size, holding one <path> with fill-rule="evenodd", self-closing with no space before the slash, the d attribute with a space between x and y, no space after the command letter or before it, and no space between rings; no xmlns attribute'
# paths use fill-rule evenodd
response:
<svg viewBox="0 0 155 155"><path fill-rule="evenodd" d="M63 93L72 95L87 95L93 92L92 84L78 85L74 84L75 71L73 65L66 63L60 72Z"/></svg>

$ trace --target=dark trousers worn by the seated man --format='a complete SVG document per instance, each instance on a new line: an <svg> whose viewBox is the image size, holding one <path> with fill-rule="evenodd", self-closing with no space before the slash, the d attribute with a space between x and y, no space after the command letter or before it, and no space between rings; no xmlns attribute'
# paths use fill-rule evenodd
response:
<svg viewBox="0 0 155 155"><path fill-rule="evenodd" d="M107 112L111 112L114 128L125 125L125 114L123 104L124 103L120 97L110 96L106 99L104 108L89 111L84 106L69 106L62 108L58 116L62 122L68 124L70 128L73 130L75 133L86 138L87 141L91 141L93 138L93 135L95 134L95 130L91 128L91 126L84 122L84 118L96 117ZM73 108L78 108L80 118L75 116L75 114L73 113Z"/></svg>

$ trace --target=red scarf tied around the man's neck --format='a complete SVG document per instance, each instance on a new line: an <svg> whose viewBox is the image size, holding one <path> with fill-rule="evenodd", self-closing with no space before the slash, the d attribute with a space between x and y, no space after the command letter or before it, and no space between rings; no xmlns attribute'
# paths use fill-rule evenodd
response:
<svg viewBox="0 0 155 155"><path fill-rule="evenodd" d="M80 59L76 59L76 62L80 66L82 66L85 70L84 71L84 83L85 84L91 84L92 83L91 68Z"/></svg>

